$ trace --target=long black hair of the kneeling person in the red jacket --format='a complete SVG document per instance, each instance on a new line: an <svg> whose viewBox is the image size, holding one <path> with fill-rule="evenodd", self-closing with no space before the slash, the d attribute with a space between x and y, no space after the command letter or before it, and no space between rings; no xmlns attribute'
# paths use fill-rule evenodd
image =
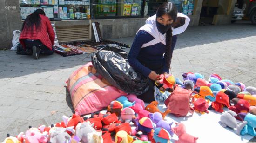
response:
<svg viewBox="0 0 256 143"><path fill-rule="evenodd" d="M34 11L34 13L31 13L30 15L28 15L25 21L23 22L21 31L24 29L31 30L31 31L40 30L40 27L41 27L40 15L45 16L45 12L42 9L37 9L36 11ZM36 29L34 29L34 26Z"/></svg>

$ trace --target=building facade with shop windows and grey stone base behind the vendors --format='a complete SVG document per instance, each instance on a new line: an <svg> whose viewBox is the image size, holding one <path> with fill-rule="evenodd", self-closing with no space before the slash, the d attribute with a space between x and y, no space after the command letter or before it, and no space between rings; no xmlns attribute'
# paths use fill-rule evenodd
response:
<svg viewBox="0 0 256 143"><path fill-rule="evenodd" d="M215 1L215 2L213 2ZM189 16L189 26L204 21L228 24L236 0L0 0L0 49L12 46L13 31L37 8L55 24L59 42L92 40L92 22L100 24L103 39L134 36L163 2L175 3ZM202 10L206 9L202 13ZM216 11L214 11L216 10ZM207 13L207 14L204 14Z"/></svg>

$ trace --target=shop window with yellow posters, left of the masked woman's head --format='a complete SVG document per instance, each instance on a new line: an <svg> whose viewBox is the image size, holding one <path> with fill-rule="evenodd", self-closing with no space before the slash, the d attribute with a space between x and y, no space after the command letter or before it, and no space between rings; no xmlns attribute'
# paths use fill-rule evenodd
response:
<svg viewBox="0 0 256 143"><path fill-rule="evenodd" d="M93 0L94 18L141 16L142 0Z"/></svg>

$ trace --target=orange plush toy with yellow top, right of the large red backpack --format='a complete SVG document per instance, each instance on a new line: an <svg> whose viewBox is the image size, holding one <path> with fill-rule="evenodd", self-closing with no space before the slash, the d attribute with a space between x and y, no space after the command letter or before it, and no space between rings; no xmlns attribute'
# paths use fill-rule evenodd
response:
<svg viewBox="0 0 256 143"><path fill-rule="evenodd" d="M194 89L194 93L196 93L193 97L194 98L203 98L205 99L206 96L213 96L211 89L208 86L201 86Z"/></svg>

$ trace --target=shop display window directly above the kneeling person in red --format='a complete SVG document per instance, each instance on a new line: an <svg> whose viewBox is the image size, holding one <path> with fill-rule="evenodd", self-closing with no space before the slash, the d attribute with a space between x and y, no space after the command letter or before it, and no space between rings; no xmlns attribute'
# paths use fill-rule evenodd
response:
<svg viewBox="0 0 256 143"><path fill-rule="evenodd" d="M90 19L90 0L20 0L21 19L41 8L51 20L54 18Z"/></svg>

